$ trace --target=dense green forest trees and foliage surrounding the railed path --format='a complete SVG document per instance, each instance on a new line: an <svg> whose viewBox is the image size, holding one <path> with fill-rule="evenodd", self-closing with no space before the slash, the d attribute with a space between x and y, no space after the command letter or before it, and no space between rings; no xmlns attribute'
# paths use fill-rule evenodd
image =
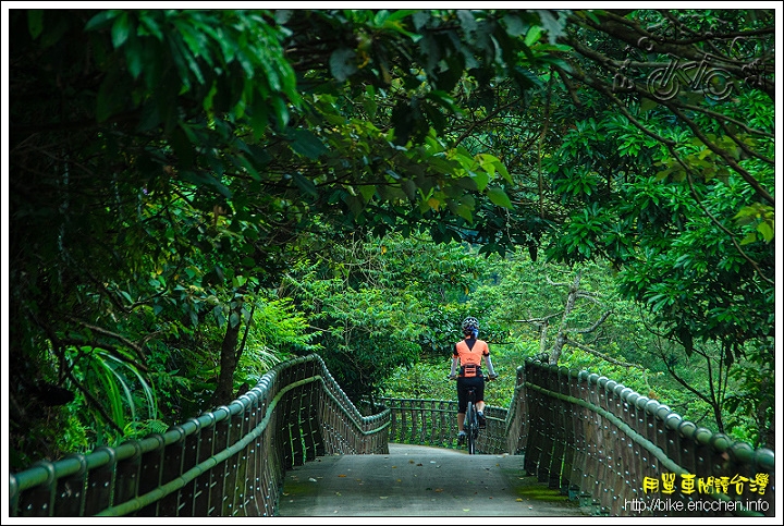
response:
<svg viewBox="0 0 784 526"><path fill-rule="evenodd" d="M451 399L468 315L492 405L536 356L773 449L775 14L5 11L11 467L314 352Z"/></svg>

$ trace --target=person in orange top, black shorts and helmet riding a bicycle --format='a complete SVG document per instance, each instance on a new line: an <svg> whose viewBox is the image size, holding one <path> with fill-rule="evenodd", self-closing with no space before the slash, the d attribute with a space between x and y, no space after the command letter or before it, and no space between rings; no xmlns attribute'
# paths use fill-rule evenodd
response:
<svg viewBox="0 0 784 526"><path fill-rule="evenodd" d="M465 421L465 412L468 406L468 389L474 388L476 392L476 408L479 427L483 428L485 419L485 376L481 370L481 360L485 358L487 365L488 378L495 379L498 375L493 370L490 360L490 348L487 342L478 340L479 321L469 316L463 320L464 340L455 344L452 353L452 369L450 371L451 379L457 379L457 443L463 444L465 441L465 430L463 423ZM460 368L460 372L458 372Z"/></svg>

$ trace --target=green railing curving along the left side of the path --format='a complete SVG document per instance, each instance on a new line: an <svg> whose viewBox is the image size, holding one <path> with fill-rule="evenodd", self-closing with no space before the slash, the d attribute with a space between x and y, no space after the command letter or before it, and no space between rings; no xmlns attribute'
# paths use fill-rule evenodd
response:
<svg viewBox="0 0 784 526"><path fill-rule="evenodd" d="M163 435L40 462L10 477L11 516L272 516L285 470L387 453L389 411L363 417L317 355L278 365Z"/></svg>

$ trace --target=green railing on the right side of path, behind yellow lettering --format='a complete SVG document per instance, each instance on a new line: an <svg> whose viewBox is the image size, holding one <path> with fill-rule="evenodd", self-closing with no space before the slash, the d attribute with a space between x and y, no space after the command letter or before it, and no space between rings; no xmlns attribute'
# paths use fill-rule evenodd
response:
<svg viewBox="0 0 784 526"><path fill-rule="evenodd" d="M520 418L525 415L525 418ZM775 516L773 451L736 442L587 371L526 360L510 444L525 467L600 514Z"/></svg>

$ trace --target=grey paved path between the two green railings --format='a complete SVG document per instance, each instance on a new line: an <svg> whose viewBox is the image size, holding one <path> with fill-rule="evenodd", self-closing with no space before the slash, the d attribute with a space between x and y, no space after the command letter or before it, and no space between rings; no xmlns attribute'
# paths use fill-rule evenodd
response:
<svg viewBox="0 0 784 526"><path fill-rule="evenodd" d="M390 444L388 455L321 456L286 472L278 513L552 517L587 516L588 510L525 476L520 455Z"/></svg>

